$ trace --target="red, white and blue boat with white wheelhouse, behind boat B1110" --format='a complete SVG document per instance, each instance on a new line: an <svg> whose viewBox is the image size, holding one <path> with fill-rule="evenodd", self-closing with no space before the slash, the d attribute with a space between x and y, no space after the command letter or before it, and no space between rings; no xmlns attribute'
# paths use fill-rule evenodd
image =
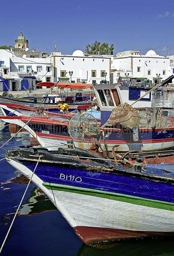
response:
<svg viewBox="0 0 174 256"><path fill-rule="evenodd" d="M95 148L108 155L113 153L113 149L129 152L173 147L174 118L168 116L172 108L152 108L151 92L144 90L124 89L117 84L103 84L101 88L96 84L94 91L101 120L94 118L90 112L74 115L67 123L48 117L6 116L1 120L24 126L32 138L39 138L40 145L44 147L59 145L60 142L86 150ZM134 104L134 109L131 104ZM138 122L130 125L134 119Z"/></svg>

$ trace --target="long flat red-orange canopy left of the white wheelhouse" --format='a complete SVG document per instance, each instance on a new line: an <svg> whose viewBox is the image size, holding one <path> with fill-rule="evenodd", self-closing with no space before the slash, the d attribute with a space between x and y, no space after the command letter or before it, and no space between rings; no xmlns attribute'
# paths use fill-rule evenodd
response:
<svg viewBox="0 0 174 256"><path fill-rule="evenodd" d="M46 87L53 87L56 86L58 88L71 88L71 89L91 89L91 83L70 83L70 82L39 82L36 86L46 86Z"/></svg>

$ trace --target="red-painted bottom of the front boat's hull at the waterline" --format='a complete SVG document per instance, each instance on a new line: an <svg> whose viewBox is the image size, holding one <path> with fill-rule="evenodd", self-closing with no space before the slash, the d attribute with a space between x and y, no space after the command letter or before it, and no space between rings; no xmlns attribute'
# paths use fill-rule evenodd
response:
<svg viewBox="0 0 174 256"><path fill-rule="evenodd" d="M78 234L80 239L86 244L94 242L118 241L145 237L174 236L174 232L132 231L114 228L86 226L74 227L74 231Z"/></svg>

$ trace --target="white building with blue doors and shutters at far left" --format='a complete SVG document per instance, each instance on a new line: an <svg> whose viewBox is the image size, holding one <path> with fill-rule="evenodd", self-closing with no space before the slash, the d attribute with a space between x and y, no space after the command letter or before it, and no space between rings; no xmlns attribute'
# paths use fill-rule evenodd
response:
<svg viewBox="0 0 174 256"><path fill-rule="evenodd" d="M40 81L53 81L50 56L0 49L0 91L26 90Z"/></svg>

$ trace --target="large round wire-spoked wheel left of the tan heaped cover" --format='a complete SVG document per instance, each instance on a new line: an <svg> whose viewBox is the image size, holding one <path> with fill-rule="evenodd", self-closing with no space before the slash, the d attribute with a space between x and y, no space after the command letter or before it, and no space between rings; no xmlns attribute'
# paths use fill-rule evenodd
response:
<svg viewBox="0 0 174 256"><path fill-rule="evenodd" d="M98 134L96 119L89 113L74 115L68 124L68 133L73 141L86 141Z"/></svg>

